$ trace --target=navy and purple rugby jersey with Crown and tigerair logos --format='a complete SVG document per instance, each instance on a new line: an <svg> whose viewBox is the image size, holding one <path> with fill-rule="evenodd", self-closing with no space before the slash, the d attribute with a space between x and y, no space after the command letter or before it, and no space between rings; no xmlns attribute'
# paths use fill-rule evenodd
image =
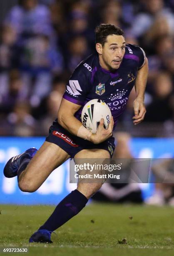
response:
<svg viewBox="0 0 174 256"><path fill-rule="evenodd" d="M73 72L63 98L82 105L82 108L89 100L103 100L111 110L115 127L134 87L137 71L144 65L144 61L145 54L139 46L126 44L119 69L111 73L100 66L98 54L92 54ZM75 113L80 121L82 108Z"/></svg>

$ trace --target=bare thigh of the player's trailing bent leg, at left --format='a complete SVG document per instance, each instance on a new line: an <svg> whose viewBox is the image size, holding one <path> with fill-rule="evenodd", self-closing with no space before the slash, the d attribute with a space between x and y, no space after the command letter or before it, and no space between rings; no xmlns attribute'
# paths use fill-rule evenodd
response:
<svg viewBox="0 0 174 256"><path fill-rule="evenodd" d="M50 173L69 158L62 148L45 141L20 175L19 185L25 183L35 189L40 187Z"/></svg>

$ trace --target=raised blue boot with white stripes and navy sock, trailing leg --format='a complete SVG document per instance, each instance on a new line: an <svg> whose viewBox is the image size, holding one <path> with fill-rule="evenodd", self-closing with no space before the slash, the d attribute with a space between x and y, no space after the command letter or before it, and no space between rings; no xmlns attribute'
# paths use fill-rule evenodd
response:
<svg viewBox="0 0 174 256"><path fill-rule="evenodd" d="M7 178L12 178L17 176L17 170L19 169L20 164L23 159L32 159L36 154L36 148L29 148L24 153L13 156L10 160L7 161L4 167L4 176Z"/></svg>

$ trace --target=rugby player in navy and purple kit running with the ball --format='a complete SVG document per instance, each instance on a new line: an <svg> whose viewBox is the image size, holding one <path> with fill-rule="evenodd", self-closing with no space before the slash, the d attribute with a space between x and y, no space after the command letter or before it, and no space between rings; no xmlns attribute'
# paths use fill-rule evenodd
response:
<svg viewBox="0 0 174 256"><path fill-rule="evenodd" d="M73 72L62 97L57 119L41 148L30 148L12 157L4 168L5 177L17 176L24 192L36 191L50 173L69 158L111 158L114 151L112 130L123 113L129 94L135 86L133 123L144 119L144 91L148 61L144 51L126 44L123 31L112 24L101 24L95 30L96 54L82 61ZM83 106L92 99L103 100L112 118L107 129L100 120L97 133L81 123ZM102 183L77 184L55 208L47 221L30 237L29 242L52 243L51 233L79 213Z"/></svg>

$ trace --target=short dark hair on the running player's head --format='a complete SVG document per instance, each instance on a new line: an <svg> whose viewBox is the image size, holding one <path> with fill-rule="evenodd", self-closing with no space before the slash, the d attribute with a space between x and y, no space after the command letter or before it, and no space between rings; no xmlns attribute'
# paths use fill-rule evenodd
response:
<svg viewBox="0 0 174 256"><path fill-rule="evenodd" d="M124 32L113 24L100 24L95 28L95 43L100 43L104 46L109 35L124 36Z"/></svg>

